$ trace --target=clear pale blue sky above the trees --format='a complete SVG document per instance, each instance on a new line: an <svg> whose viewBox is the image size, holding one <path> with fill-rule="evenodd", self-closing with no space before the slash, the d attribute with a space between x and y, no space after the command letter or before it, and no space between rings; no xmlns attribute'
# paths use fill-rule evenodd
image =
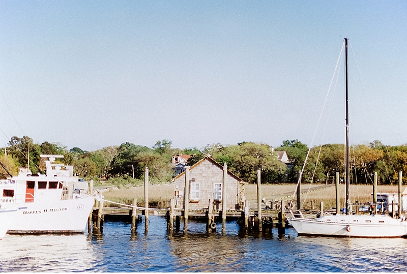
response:
<svg viewBox="0 0 407 274"><path fill-rule="evenodd" d="M405 1L3 0L0 146L344 143L344 38L351 144L405 144L406 15Z"/></svg>

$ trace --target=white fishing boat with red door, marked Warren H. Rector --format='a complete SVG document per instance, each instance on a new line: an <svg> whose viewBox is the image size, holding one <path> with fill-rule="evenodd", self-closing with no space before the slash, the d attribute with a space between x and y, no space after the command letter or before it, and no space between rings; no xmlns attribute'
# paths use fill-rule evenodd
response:
<svg viewBox="0 0 407 274"><path fill-rule="evenodd" d="M88 182L73 176L72 166L54 164L63 156L41 157L48 158L45 174L21 169L0 181L0 208L15 211L8 233L83 233L95 202ZM0 223L8 215L0 214Z"/></svg>

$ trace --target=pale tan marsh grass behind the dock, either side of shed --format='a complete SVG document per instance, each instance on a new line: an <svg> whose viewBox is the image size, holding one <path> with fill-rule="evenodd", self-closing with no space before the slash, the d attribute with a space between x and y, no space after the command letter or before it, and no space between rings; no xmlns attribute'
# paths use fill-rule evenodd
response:
<svg viewBox="0 0 407 274"><path fill-rule="evenodd" d="M311 187L322 186L312 184ZM293 193L296 188L295 184L275 184L275 185L261 185L262 197L266 198L273 195L282 193ZM301 189L307 190L309 184L301 185ZM404 190L404 187L403 187ZM372 201L373 187L369 185L351 185L350 197L351 202L359 201L361 203ZM377 186L377 193L397 193L397 186ZM255 184L248 184L245 186L246 199L257 199L257 186ZM167 208L169 207L169 199L174 195L174 185L150 185L149 186L149 207L152 208ZM130 205L133 198L137 199L138 206L144 206L144 187L129 187L121 188L119 190L110 190L103 193L106 200ZM340 185L340 204L343 207L345 204L345 186ZM325 208L336 206L336 192L335 187L309 192L302 194L301 200L306 208L310 208L310 201L314 202L314 207L319 207L319 202L324 202ZM296 197L294 197L296 199ZM106 206L115 207L117 205L107 203Z"/></svg>

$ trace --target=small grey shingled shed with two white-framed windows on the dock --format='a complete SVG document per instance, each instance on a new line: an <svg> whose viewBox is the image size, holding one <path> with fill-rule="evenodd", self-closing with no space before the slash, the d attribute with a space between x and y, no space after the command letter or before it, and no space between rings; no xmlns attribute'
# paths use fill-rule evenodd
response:
<svg viewBox="0 0 407 274"><path fill-rule="evenodd" d="M176 206L184 207L185 171L175 177ZM213 209L221 209L226 201L226 209L243 208L245 200L245 182L235 174L227 171L226 197L223 193L223 166L210 157L205 157L189 169L189 209L208 208L213 199Z"/></svg>

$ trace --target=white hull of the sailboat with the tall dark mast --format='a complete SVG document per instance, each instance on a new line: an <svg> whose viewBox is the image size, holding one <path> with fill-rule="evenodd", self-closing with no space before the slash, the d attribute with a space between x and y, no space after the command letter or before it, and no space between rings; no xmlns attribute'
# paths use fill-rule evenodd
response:
<svg viewBox="0 0 407 274"><path fill-rule="evenodd" d="M403 237L407 221L383 215L336 215L316 219L288 218L299 235L336 237Z"/></svg>

